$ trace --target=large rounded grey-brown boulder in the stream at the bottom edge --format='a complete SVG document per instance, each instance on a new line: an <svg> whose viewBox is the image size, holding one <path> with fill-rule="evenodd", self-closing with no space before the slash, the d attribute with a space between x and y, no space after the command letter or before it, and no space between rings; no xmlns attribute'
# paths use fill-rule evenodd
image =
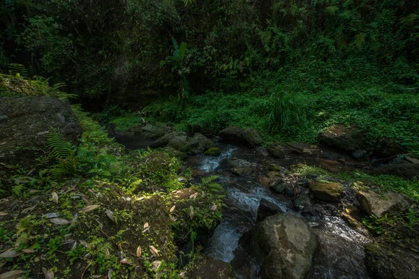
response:
<svg viewBox="0 0 419 279"><path fill-rule="evenodd" d="M313 229L291 214L277 214L256 225L251 247L262 262L262 278L304 278L316 248Z"/></svg>

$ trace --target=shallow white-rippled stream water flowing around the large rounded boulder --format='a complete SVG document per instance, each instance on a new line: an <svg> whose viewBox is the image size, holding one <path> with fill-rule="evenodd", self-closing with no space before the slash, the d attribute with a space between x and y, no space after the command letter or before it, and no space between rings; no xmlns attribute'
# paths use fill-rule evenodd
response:
<svg viewBox="0 0 419 279"><path fill-rule="evenodd" d="M246 249L240 245L240 238L256 225L260 199L264 198L277 204L285 212L297 216L300 216L300 213L293 210L291 198L274 195L260 186L256 177L244 179L223 172L222 161L226 158L240 157L242 151L235 146L220 147L222 153L219 157L198 155L190 160L194 167L206 174L219 175L219 181L228 193L223 220L216 227L205 252L223 262L232 263L237 278L259 278L260 263L249 255L243 255ZM351 229L344 220L336 216L307 221L316 229L319 241L318 252L307 278L369 278L364 264L363 246L369 242L366 234ZM244 269L242 266L248 268Z"/></svg>

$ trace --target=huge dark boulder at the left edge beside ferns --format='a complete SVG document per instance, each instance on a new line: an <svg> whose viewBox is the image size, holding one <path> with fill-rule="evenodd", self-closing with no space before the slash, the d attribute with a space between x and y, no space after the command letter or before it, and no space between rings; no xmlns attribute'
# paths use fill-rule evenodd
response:
<svg viewBox="0 0 419 279"><path fill-rule="evenodd" d="M82 135L78 117L64 100L0 98L0 163L31 166L35 153L46 148L51 127L71 144L78 144Z"/></svg>

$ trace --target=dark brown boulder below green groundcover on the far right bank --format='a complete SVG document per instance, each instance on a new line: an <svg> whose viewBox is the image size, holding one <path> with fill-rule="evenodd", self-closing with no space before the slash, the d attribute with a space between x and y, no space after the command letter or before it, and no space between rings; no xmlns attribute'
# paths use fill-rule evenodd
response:
<svg viewBox="0 0 419 279"><path fill-rule="evenodd" d="M318 135L318 140L337 149L353 152L362 149L362 133L357 128L337 124Z"/></svg>

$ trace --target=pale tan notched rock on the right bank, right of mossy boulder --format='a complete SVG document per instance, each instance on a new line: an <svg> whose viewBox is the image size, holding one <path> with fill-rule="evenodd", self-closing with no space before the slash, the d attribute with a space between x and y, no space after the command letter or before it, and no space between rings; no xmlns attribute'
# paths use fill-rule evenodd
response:
<svg viewBox="0 0 419 279"><path fill-rule="evenodd" d="M382 199L376 193L369 192L358 192L356 197L360 202L362 209L364 209L369 215L374 214L377 217L383 216L383 214L390 211L407 211L409 209L409 202L404 197L397 193L388 193L385 195L387 199Z"/></svg>

